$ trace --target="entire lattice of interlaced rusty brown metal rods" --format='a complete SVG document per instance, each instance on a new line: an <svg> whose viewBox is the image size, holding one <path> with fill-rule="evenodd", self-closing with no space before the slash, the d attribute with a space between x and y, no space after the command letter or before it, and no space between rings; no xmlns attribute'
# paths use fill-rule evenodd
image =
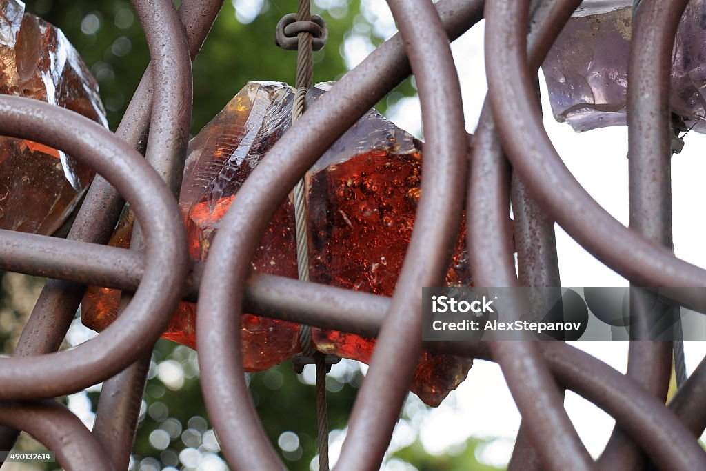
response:
<svg viewBox="0 0 706 471"><path fill-rule="evenodd" d="M379 467L422 347L500 364L522 413L511 470L637 470L645 460L662 470L706 469L706 454L695 440L706 427L706 363L665 407L669 344L633 342L625 376L560 342L422 345L419 336L419 288L443 281L464 199L469 261L478 286L558 285L555 220L635 285L706 285L705 270L671 253L668 66L685 0L644 0L638 11L630 73L640 80L628 88L630 229L606 213L568 172L546 136L537 104L537 68L578 0L486 5L480 0L436 5L390 0L400 34L314 102L270 150L239 191L242 204L230 208L222 220L205 264L188 259L174 194L179 192L189 129L190 61L222 0L185 0L178 16L168 0L134 3L155 60L116 134L64 109L0 97L0 134L65 150L105 177L93 182L68 239L0 231L0 269L52 278L13 357L0 359L0 424L34 435L56 451L66 469L124 469L145 359L177 302L200 297L197 340L203 393L222 450L236 470L284 467L265 437L244 381L238 335L242 309L378 337L339 470ZM484 15L489 97L472 139L467 172L469 141L445 35L454 40ZM395 296L252 273L251 255L282 198L338 136L412 71L426 135L425 191ZM149 208L149 224L139 226L144 251L140 237L131 250L100 245L112 232L123 198L138 221L147 220ZM73 350L57 353L87 284L134 294L126 294L130 302L112 326ZM674 293L676 302L706 311L706 299ZM390 328L400 318L405 328ZM105 383L91 434L52 398L100 381ZM565 388L616 419L619 428L597 463L563 409ZM17 400L30 402L9 402ZM0 429L0 449L15 437L13 429Z"/></svg>

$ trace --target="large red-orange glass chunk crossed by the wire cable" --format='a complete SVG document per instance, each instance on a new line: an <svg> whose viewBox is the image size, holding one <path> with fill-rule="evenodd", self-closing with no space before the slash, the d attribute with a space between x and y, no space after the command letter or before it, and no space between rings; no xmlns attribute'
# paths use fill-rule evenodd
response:
<svg viewBox="0 0 706 471"><path fill-rule="evenodd" d="M326 85L309 91L316 100ZM237 204L252 169L291 125L294 90L249 83L189 144L179 206L193 258L205 260L220 219ZM309 263L313 282L390 295L414 225L420 189L421 143L371 109L331 146L306 177ZM124 217L112 244L128 246ZM469 285L460 234L447 282ZM252 260L261 273L297 278L294 208L282 201ZM119 292L90 288L83 322L100 330L115 316ZM164 338L195 347L196 306L182 303ZM299 326L244 314L241 340L247 371L266 369L299 352ZM421 335L421 333L420 333ZM312 329L319 350L367 362L373 339ZM438 405L465 378L471 361L424 352L411 389Z"/></svg>

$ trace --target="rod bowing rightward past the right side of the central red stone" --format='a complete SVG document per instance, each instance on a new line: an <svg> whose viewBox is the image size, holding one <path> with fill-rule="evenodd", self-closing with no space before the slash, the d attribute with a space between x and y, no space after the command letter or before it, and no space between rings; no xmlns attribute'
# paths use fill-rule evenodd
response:
<svg viewBox="0 0 706 471"><path fill-rule="evenodd" d="M421 354L421 288L443 285L461 223L467 138L448 38L431 0L388 0L417 79L422 193L395 294L358 391L335 470L379 469ZM426 18L424 28L417 20ZM207 267L208 270L208 267Z"/></svg>

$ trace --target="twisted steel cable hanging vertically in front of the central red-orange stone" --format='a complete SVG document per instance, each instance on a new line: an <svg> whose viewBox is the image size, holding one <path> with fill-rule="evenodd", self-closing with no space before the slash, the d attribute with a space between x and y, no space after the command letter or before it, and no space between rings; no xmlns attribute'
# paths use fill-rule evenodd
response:
<svg viewBox="0 0 706 471"><path fill-rule="evenodd" d="M299 0L297 21L311 21L309 0ZM306 92L313 79L313 36L311 32L299 32L297 35L297 78L292 106L292 124L304 113ZM294 204L294 222L297 237L297 273L299 280L309 281L309 237L306 232L306 195L304 179L297 181L292 190ZM318 442L318 469L328 471L328 410L326 408L326 372L325 355L318 352L311 342L311 328L306 324L299 326L299 346L306 357L313 357L316 362L316 422Z"/></svg>

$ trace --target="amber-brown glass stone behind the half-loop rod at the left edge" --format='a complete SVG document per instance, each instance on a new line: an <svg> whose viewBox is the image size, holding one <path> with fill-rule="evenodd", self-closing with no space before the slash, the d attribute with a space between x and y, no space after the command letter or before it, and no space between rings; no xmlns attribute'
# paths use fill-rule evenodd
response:
<svg viewBox="0 0 706 471"><path fill-rule="evenodd" d="M98 85L64 33L0 0L0 93L59 105L107 126ZM47 145L0 137L0 228L52 234L93 177Z"/></svg>

